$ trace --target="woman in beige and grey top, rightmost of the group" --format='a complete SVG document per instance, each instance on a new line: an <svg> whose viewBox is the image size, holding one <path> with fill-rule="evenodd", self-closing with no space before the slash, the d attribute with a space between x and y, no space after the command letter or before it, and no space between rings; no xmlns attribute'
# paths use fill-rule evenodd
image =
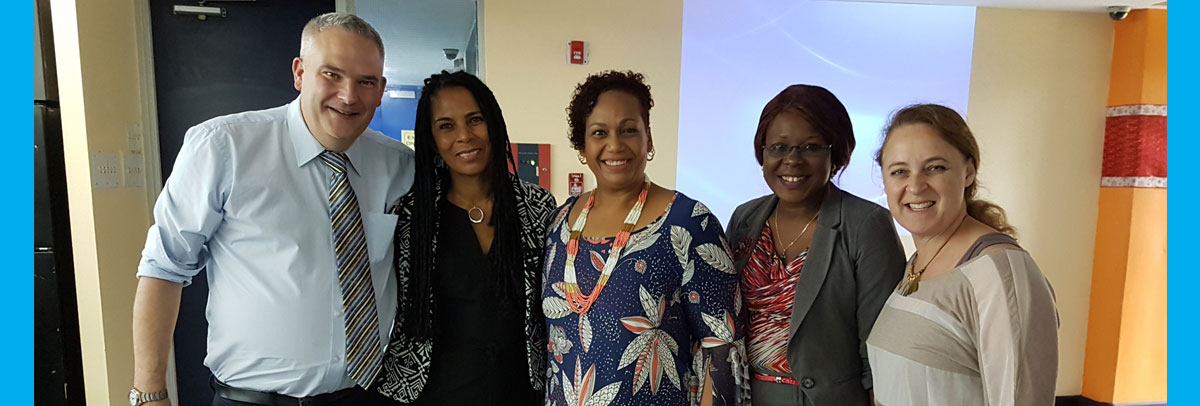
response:
<svg viewBox="0 0 1200 406"><path fill-rule="evenodd" d="M977 199L979 147L936 105L893 115L876 156L917 252L866 340L880 405L1052 405L1054 292L1004 210Z"/></svg>

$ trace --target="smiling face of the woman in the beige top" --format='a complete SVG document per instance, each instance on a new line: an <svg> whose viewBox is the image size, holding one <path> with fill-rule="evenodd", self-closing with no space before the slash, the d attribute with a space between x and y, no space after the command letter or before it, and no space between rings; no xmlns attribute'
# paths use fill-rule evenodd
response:
<svg viewBox="0 0 1200 406"><path fill-rule="evenodd" d="M966 215L964 192L974 183L974 165L932 126L892 130L880 166L888 209L913 237L938 235Z"/></svg>

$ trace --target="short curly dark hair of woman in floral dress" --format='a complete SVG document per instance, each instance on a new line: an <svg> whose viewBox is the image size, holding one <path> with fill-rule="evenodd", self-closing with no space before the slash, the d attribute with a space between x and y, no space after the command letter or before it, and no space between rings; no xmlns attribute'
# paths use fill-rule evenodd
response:
<svg viewBox="0 0 1200 406"><path fill-rule="evenodd" d="M620 90L636 97L642 105L642 121L646 123L646 135L650 135L650 108L654 107L654 98L650 97L650 86L646 84L646 76L634 71L604 71L588 76L583 83L575 86L571 95L571 105L566 107L566 124L571 127L569 136L571 148L577 151L583 150L583 132L587 127L588 115L596 107L596 98L610 90Z"/></svg>

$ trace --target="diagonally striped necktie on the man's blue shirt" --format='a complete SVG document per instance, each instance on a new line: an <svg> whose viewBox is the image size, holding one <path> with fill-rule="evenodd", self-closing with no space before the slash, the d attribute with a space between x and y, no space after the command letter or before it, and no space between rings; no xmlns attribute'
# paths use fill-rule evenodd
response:
<svg viewBox="0 0 1200 406"><path fill-rule="evenodd" d="M359 386L370 388L383 366L383 346L359 199L346 177L346 154L326 150L320 160L334 171L329 179L329 216L346 310L346 372Z"/></svg>

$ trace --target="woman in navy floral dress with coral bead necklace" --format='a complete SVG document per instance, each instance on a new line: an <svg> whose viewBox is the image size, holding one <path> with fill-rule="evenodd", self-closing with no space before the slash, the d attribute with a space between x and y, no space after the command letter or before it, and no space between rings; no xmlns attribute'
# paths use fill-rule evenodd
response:
<svg viewBox="0 0 1200 406"><path fill-rule="evenodd" d="M547 405L749 396L724 231L703 203L646 177L652 106L640 73L598 73L575 89L571 145L596 189L569 199L548 227Z"/></svg>

